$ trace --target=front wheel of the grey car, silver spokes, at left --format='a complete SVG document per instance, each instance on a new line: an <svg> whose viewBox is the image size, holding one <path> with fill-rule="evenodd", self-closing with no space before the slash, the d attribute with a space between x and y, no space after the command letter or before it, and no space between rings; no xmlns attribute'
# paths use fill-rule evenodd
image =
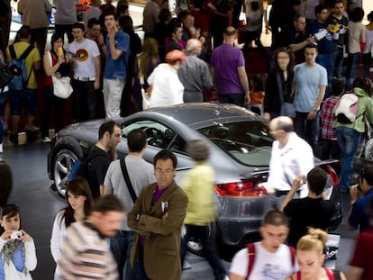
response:
<svg viewBox="0 0 373 280"><path fill-rule="evenodd" d="M53 179L57 191L65 196L66 182L68 181L68 172L77 161L77 155L69 149L61 149L53 164Z"/></svg>

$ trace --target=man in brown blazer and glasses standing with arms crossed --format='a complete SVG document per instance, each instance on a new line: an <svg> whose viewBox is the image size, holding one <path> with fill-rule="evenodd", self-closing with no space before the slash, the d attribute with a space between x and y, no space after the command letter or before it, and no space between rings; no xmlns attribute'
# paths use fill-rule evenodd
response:
<svg viewBox="0 0 373 280"><path fill-rule="evenodd" d="M137 232L131 266L139 262L151 280L181 280L181 226L187 215L187 194L175 183L177 158L168 149L154 157L157 183L142 188L128 225Z"/></svg>

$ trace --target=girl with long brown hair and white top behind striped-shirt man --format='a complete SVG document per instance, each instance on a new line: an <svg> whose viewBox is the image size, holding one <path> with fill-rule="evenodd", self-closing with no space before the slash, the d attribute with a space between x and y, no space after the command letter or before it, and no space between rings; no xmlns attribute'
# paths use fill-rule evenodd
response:
<svg viewBox="0 0 373 280"><path fill-rule="evenodd" d="M61 257L61 243L66 228L75 221L84 221L93 205L89 185L86 179L81 177L68 182L65 198L68 206L57 212L50 238L50 252L56 264ZM54 279L59 279L59 266L56 267Z"/></svg>

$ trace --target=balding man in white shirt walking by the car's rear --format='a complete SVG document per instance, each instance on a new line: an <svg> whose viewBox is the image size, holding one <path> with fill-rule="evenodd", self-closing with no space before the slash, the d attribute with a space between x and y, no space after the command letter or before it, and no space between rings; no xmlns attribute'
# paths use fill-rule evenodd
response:
<svg viewBox="0 0 373 280"><path fill-rule="evenodd" d="M269 130L275 141L272 144L269 161L268 189L266 210L279 209L291 189L297 176L307 175L314 168L314 152L311 146L294 131L293 121L280 116L269 122ZM307 196L306 185L299 188L297 197Z"/></svg>

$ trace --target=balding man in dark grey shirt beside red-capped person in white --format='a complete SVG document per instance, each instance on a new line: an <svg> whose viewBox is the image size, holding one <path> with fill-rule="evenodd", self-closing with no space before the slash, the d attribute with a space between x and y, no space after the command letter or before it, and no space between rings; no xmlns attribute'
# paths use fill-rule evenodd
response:
<svg viewBox="0 0 373 280"><path fill-rule="evenodd" d="M202 44L197 39L187 41L187 59L177 71L178 78L184 86L184 102L204 102L204 90L213 87L210 71L204 60L198 59Z"/></svg>

